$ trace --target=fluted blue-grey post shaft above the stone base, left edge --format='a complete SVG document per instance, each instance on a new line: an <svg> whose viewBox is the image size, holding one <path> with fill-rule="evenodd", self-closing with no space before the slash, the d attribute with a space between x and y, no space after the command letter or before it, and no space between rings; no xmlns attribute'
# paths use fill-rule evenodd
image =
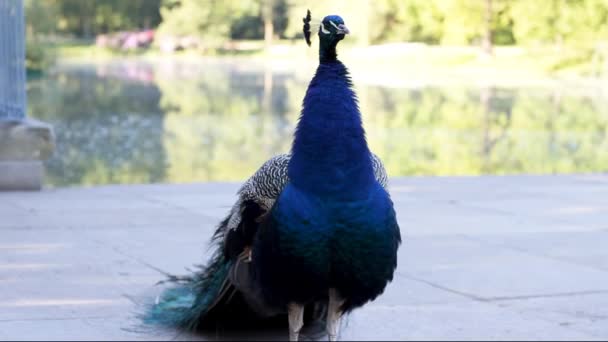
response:
<svg viewBox="0 0 608 342"><path fill-rule="evenodd" d="M25 118L23 0L0 0L0 119Z"/></svg>

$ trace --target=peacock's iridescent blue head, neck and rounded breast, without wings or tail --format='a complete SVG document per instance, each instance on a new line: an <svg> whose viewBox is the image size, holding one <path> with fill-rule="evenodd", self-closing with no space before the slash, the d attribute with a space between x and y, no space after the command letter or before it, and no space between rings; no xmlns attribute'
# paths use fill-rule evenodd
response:
<svg viewBox="0 0 608 342"><path fill-rule="evenodd" d="M332 20L327 31L343 24L336 16L324 23ZM290 182L260 229L253 263L274 306L322 301L335 288L350 311L392 279L400 234L392 201L374 177L348 71L331 51L342 38L319 35L329 51L321 51L306 92Z"/></svg>

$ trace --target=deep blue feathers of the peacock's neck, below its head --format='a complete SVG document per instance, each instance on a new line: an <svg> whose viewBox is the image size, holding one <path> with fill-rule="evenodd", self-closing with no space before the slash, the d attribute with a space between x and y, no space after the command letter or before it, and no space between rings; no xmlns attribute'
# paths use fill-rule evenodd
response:
<svg viewBox="0 0 608 342"><path fill-rule="evenodd" d="M374 183L357 98L336 59L321 61L308 86L288 172L294 186L324 196L364 196Z"/></svg>

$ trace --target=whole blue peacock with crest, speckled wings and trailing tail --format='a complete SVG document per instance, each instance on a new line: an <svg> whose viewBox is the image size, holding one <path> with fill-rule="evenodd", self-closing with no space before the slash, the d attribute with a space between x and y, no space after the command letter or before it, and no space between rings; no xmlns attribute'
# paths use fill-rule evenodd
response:
<svg viewBox="0 0 608 342"><path fill-rule="evenodd" d="M310 11L304 18L310 45ZM287 323L297 341L320 321L329 340L343 315L382 294L397 267L400 229L387 175L370 152L356 94L336 47L343 19L319 25L319 66L291 152L249 178L218 225L205 266L170 276L145 315L187 330Z"/></svg>

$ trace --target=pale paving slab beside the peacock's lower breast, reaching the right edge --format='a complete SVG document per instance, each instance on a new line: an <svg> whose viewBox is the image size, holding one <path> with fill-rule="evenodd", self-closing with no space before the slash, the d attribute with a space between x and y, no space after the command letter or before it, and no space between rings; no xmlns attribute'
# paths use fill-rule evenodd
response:
<svg viewBox="0 0 608 342"><path fill-rule="evenodd" d="M409 242L409 248L404 246L399 253L400 270L471 297L491 300L572 292L608 293L608 274L590 265L500 248L466 237L411 238Z"/></svg>

